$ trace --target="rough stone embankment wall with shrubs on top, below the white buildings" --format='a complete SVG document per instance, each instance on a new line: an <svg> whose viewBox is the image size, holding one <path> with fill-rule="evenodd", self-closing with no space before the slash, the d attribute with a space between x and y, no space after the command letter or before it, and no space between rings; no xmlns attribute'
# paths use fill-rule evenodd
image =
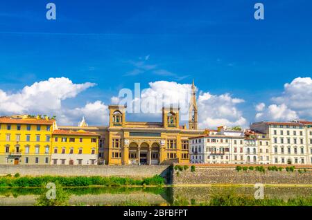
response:
<svg viewBox="0 0 312 220"><path fill-rule="evenodd" d="M173 172L173 185L198 185L198 184L302 184L312 185L312 170L300 174L297 169L294 172L283 171L236 171L234 167L196 167Z"/></svg>

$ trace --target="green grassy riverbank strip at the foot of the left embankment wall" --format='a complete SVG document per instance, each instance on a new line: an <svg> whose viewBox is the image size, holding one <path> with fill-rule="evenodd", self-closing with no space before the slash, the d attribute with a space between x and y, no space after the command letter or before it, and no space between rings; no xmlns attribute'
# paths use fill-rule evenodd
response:
<svg viewBox="0 0 312 220"><path fill-rule="evenodd" d="M23 176L0 177L0 187L45 187L47 183L57 183L62 187L99 186L142 186L164 185L164 178L155 175L150 178L134 179L126 177L102 176Z"/></svg>

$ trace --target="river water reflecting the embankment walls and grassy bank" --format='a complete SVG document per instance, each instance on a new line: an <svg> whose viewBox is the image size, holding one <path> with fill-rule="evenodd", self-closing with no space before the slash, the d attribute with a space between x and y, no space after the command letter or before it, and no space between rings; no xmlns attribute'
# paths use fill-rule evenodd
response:
<svg viewBox="0 0 312 220"><path fill-rule="evenodd" d="M71 205L172 205L177 200L190 203L209 201L212 194L254 195L254 187L73 187ZM42 188L1 188L0 205L34 205ZM311 196L312 187L265 187L267 198L292 199Z"/></svg>

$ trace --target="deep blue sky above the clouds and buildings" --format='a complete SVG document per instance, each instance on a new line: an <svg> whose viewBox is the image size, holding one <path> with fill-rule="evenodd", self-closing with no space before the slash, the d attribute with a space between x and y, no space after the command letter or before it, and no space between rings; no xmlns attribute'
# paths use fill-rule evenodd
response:
<svg viewBox="0 0 312 220"><path fill-rule="evenodd" d="M49 2L55 21L45 17ZM70 109L109 104L135 82L194 79L204 93L245 100L237 108L252 122L255 105L275 104L284 84L312 70L312 2L261 1L263 21L256 2L1 1L0 89L14 94L49 77L97 84L62 102Z"/></svg>

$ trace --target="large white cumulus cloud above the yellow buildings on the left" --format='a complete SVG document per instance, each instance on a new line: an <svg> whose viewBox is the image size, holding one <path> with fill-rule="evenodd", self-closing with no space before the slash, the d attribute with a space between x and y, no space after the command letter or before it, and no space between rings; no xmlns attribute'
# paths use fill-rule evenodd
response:
<svg viewBox="0 0 312 220"><path fill-rule="evenodd" d="M6 93L0 89L0 113L55 115L60 125L73 125L73 122L78 122L83 116L90 122L107 122L107 106L100 101L75 109L62 106L64 100L76 98L79 93L95 85L91 82L74 84L66 77L51 77L49 80L25 86L17 93Z"/></svg>

